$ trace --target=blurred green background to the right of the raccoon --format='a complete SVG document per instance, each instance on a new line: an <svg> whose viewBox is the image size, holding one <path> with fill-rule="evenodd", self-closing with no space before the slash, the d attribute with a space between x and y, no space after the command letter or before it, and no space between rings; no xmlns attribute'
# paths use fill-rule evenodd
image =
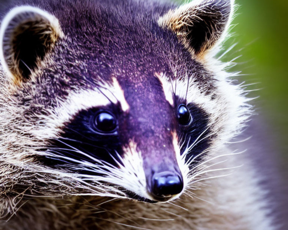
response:
<svg viewBox="0 0 288 230"><path fill-rule="evenodd" d="M259 96L252 103L261 112L274 132L276 147L282 154L280 163L287 170L288 163L288 1L287 0L235 0L238 5L235 25L225 46L236 46L223 58L230 61L241 55L232 71L242 71L240 81L249 86L250 97ZM178 2L183 3L187 1ZM288 171L288 170L287 170Z"/></svg>

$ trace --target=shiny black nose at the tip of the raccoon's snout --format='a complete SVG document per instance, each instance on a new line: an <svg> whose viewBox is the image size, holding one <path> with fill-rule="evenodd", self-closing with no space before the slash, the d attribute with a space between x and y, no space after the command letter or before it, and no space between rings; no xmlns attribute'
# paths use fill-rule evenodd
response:
<svg viewBox="0 0 288 230"><path fill-rule="evenodd" d="M183 180L181 176L168 171L155 173L151 182L151 194L156 199L177 195L183 189Z"/></svg>

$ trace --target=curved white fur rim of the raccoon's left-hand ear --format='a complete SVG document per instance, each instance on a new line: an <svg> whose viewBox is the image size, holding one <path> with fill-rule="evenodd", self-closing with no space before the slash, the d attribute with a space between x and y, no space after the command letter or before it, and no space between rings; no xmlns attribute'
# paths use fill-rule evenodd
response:
<svg viewBox="0 0 288 230"><path fill-rule="evenodd" d="M5 57L4 57L4 51L3 51L4 35L11 20L18 14L25 13L25 12L32 12L35 14L39 14L40 16L48 19L48 21L51 23L55 31L57 31L58 35L60 37L64 37L64 34L60 28L58 19L55 16L49 14L48 12L43 11L37 7L29 6L29 5L18 6L18 7L14 7L13 9L11 9L3 18L1 22L1 27L0 27L0 62L3 66L3 69L5 70L5 72L8 74L10 78L13 78L13 74L10 72L8 65L5 61Z"/></svg>

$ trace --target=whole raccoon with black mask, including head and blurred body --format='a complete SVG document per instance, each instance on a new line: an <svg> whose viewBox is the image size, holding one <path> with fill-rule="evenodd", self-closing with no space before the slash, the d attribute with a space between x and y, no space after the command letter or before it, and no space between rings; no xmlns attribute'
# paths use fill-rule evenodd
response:
<svg viewBox="0 0 288 230"><path fill-rule="evenodd" d="M216 57L234 8L10 2L0 229L276 229L253 166L229 145L253 114Z"/></svg>

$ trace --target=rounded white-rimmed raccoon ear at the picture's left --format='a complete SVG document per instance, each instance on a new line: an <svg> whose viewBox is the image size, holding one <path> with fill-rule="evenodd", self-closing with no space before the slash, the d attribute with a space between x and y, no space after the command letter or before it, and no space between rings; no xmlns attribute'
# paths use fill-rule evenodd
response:
<svg viewBox="0 0 288 230"><path fill-rule="evenodd" d="M0 28L0 61L13 83L28 80L62 36L53 15L32 6L13 8Z"/></svg>

